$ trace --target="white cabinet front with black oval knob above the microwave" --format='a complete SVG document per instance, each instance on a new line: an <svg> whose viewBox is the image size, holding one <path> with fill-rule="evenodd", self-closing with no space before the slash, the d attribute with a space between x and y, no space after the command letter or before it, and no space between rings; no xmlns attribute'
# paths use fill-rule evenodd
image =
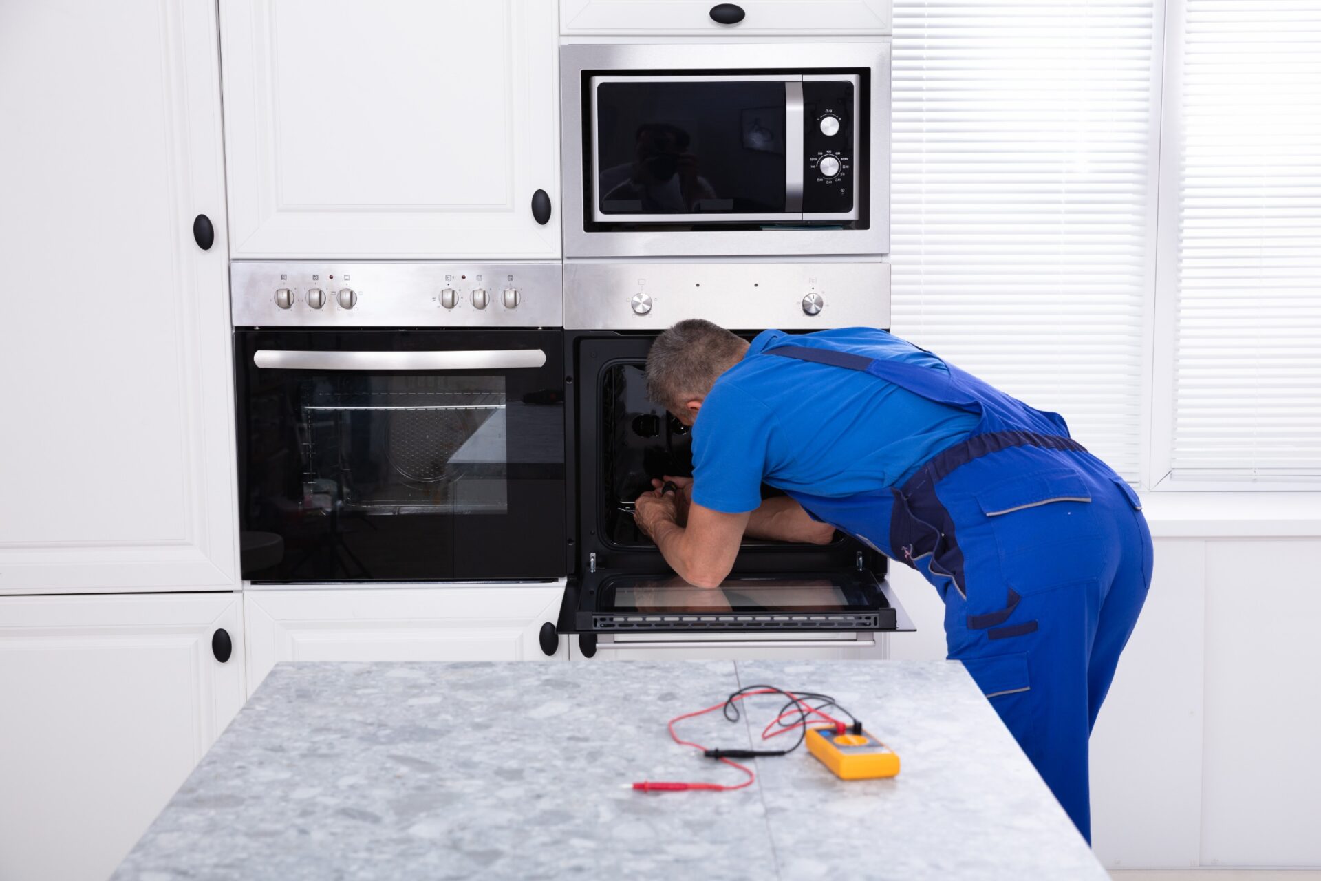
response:
<svg viewBox="0 0 1321 881"><path fill-rule="evenodd" d="M567 36L876 36L890 33L890 0L740 0L742 21L711 17L716 0L560 0Z"/></svg>

